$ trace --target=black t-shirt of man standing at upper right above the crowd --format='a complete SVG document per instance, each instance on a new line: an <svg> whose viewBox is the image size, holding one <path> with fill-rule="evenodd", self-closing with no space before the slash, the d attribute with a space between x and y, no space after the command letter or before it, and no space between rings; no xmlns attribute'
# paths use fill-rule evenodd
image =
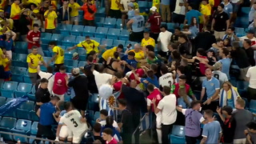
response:
<svg viewBox="0 0 256 144"><path fill-rule="evenodd" d="M214 30L215 31L226 31L226 21L229 20L229 15L226 14L224 11L222 13L216 12L214 14L215 24Z"/></svg>

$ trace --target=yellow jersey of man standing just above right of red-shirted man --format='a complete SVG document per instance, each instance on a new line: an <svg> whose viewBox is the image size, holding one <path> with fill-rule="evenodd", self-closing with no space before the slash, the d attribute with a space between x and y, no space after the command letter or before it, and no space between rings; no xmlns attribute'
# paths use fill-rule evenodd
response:
<svg viewBox="0 0 256 144"><path fill-rule="evenodd" d="M46 16L46 14L48 14L49 10L46 10L44 16ZM55 23L55 19L58 18L56 12L53 10L50 12L50 14L48 14L48 16L45 18L46 21L46 29L52 30L56 28L56 23Z"/></svg>

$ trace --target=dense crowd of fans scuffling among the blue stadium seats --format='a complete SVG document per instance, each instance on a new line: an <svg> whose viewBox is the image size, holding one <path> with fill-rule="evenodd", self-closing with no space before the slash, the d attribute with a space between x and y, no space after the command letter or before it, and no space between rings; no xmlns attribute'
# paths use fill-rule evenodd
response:
<svg viewBox="0 0 256 144"><path fill-rule="evenodd" d="M36 87L37 138L80 143L91 131L88 143L130 144L133 134L134 143L139 143L138 126L146 114L153 120L156 143L170 143L174 125L185 126L186 143L256 143L254 114L246 110L244 100L256 100L255 32L250 29L240 38L234 32L243 1L171 2L153 1L145 20L133 0L105 1L106 16L122 18L122 29L138 43L106 49L86 36L66 49L86 50L86 65L71 73L64 66L66 50L58 42L48 43L52 58L43 59L41 33L56 33L58 23L78 25L79 10L83 24L95 26L97 2L1 2L0 78L11 80L15 42L27 42L28 74ZM255 10L252 2L248 25L256 19ZM177 27L172 31L165 22ZM74 52L73 60L78 58ZM236 82L242 82L246 95L239 94ZM65 94L70 102L64 102ZM86 110L94 97L100 117L90 126Z"/></svg>

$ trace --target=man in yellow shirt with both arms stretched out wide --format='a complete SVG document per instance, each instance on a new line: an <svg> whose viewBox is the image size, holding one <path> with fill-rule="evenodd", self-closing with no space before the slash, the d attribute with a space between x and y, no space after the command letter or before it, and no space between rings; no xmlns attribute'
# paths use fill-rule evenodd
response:
<svg viewBox="0 0 256 144"><path fill-rule="evenodd" d="M70 47L68 50L74 50L77 47L83 47L86 50L86 54L90 54L91 50L94 50L98 53L98 47L106 49L106 46L100 45L98 42L90 39L90 36L86 36L86 40L78 43L77 45Z"/></svg>

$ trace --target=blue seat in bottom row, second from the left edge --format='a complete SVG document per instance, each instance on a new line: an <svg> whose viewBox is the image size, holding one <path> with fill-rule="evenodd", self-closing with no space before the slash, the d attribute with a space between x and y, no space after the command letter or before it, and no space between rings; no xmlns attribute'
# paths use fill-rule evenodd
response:
<svg viewBox="0 0 256 144"><path fill-rule="evenodd" d="M30 129L31 129L31 121L25 120L25 119L18 119L16 126L11 129L11 132L14 134L24 134L24 135L29 135L30 134ZM22 136L15 136L14 135L14 141L18 141L18 139L21 142L28 142L28 138L24 138Z"/></svg>

